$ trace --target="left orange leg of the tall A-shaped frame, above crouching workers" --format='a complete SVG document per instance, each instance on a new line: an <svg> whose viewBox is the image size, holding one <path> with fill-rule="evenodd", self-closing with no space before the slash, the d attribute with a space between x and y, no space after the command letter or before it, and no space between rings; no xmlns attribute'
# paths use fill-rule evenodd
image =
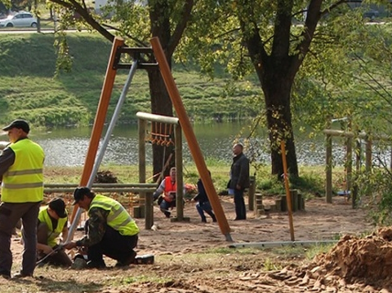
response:
<svg viewBox="0 0 392 293"><path fill-rule="evenodd" d="M116 57L117 48L122 45L124 45L124 40L116 37L113 41L109 64L106 69L105 81L101 91L100 102L98 104L98 108L95 114L95 121L91 133L90 145L87 150L83 173L79 183L80 186L87 185L88 180L91 176L92 168L94 167L96 152L98 150L100 139L102 137L102 130L104 128L105 118L109 108L109 101L113 91L114 79L116 77L116 69L113 68L114 59ZM72 210L72 215L70 219L71 223L74 221L77 210L78 205L75 205L74 209Z"/></svg>

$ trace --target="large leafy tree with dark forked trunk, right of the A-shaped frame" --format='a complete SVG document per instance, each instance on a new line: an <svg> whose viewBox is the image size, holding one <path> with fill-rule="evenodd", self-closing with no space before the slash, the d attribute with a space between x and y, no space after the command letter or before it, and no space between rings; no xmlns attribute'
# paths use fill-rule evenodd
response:
<svg viewBox="0 0 392 293"><path fill-rule="evenodd" d="M265 111L269 131L272 174L283 173L280 142L284 140L288 172L299 175L292 127L292 87L314 40L318 48L321 43L325 48L331 47L348 30L355 30L361 18L347 3L344 0L211 1L206 17L199 15L203 24L187 30L185 50L193 48L195 56L201 51L203 56L199 55L199 59L206 71L213 70L209 61L226 60L228 69L238 78L249 73L250 67L256 73L263 91L264 105L260 106L260 112ZM344 20L344 28L341 20L346 13L351 16ZM339 32L340 29L344 31ZM312 57L317 54L311 52ZM323 66L322 58L318 62Z"/></svg>

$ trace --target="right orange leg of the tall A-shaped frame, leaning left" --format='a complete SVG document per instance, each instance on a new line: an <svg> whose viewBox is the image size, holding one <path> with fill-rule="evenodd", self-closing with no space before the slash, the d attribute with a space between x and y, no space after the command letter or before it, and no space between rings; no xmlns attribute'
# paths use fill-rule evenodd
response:
<svg viewBox="0 0 392 293"><path fill-rule="evenodd" d="M180 120L181 127L184 130L184 134L188 142L189 150L198 168L200 177L204 184L204 188L206 189L208 195L208 199L210 200L211 206L215 212L220 231L222 231L222 233L226 236L227 241L232 241L230 235L229 223L227 222L222 205L220 205L219 198L218 195L216 194L216 190L212 183L211 177L208 174L206 162L204 161L202 152L199 147L199 143L196 139L196 136L194 135L192 125L186 114L186 110L184 104L182 103L180 93L177 89L173 75L171 75L171 71L167 63L166 57L164 55L161 43L159 42L159 39L157 37L152 38L150 42L153 47L154 56L158 61L159 68L161 70L161 74L163 77L163 81L165 82L166 89L169 93L171 102L173 102L174 108L176 109L177 116Z"/></svg>

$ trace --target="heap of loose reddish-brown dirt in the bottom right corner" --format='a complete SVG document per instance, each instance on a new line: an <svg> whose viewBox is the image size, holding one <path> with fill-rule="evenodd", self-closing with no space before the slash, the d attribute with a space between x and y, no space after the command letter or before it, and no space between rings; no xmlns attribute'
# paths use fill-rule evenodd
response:
<svg viewBox="0 0 392 293"><path fill-rule="evenodd" d="M313 290L339 288L381 292L392 290L392 228L364 238L345 235L306 267L285 268L269 277ZM372 288L372 289L371 289ZM366 290L366 291L367 291Z"/></svg>

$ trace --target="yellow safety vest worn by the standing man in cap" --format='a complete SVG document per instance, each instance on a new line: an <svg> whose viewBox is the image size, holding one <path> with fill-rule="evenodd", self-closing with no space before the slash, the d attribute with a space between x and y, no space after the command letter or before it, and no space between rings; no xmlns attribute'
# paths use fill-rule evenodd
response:
<svg viewBox="0 0 392 293"><path fill-rule="evenodd" d="M2 201L39 202L43 199L43 149L30 139L10 144L15 162L3 175Z"/></svg>

